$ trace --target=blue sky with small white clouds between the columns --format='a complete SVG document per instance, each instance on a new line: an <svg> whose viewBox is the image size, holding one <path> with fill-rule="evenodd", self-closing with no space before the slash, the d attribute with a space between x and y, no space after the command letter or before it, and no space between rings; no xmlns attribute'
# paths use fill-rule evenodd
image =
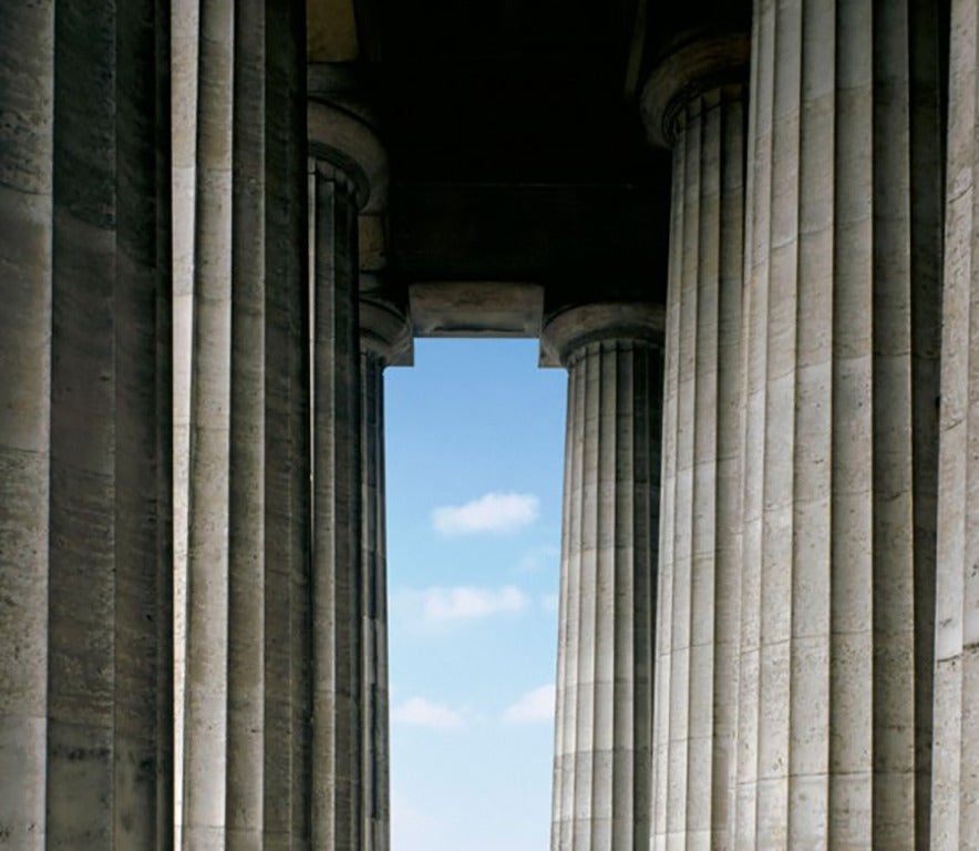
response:
<svg viewBox="0 0 979 851"><path fill-rule="evenodd" d="M536 340L385 372L393 851L548 844L566 391Z"/></svg>

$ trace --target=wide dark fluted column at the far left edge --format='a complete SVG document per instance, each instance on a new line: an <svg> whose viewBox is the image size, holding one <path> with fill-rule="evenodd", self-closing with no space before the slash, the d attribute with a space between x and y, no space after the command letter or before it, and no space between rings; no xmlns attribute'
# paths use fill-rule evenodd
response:
<svg viewBox="0 0 979 851"><path fill-rule="evenodd" d="M167 849L169 8L0 18L0 848Z"/></svg>

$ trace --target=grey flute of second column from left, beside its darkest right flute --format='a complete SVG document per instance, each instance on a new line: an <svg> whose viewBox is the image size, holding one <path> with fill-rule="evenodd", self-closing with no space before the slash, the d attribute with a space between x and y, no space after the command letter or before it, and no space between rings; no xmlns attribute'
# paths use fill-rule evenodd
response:
<svg viewBox="0 0 979 851"><path fill-rule="evenodd" d="M235 2L231 39L230 416L228 435L225 847L257 848L265 738L266 103L265 9ZM196 470L194 471L196 472ZM196 507L196 506L195 506ZM196 566L192 563L192 566Z"/></svg>

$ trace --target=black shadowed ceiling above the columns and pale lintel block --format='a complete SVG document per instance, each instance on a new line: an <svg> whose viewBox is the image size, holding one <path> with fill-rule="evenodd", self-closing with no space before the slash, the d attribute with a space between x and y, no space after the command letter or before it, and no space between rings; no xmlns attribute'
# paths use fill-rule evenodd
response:
<svg viewBox="0 0 979 851"><path fill-rule="evenodd" d="M310 63L352 70L375 107L394 286L543 284L547 310L662 299L670 161L645 141L637 90L703 9L651 21L647 0L308 8Z"/></svg>

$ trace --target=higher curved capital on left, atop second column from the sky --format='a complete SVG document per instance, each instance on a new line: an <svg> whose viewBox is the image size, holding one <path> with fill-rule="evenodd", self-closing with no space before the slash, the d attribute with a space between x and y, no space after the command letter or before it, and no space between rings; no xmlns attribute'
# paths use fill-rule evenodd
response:
<svg viewBox="0 0 979 851"><path fill-rule="evenodd" d="M347 105L310 100L307 105L309 155L317 170L342 172L357 188L362 213L377 213L388 202L388 154L374 127Z"/></svg>

